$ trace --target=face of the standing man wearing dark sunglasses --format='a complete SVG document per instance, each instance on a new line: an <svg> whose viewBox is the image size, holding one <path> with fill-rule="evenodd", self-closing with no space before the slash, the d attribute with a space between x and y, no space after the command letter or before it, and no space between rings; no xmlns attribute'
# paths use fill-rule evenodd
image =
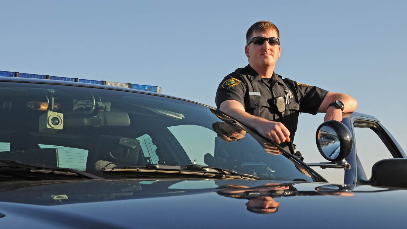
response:
<svg viewBox="0 0 407 229"><path fill-rule="evenodd" d="M253 37L278 37L274 30L271 31L255 31ZM281 47L279 45L270 45L269 42L263 44L250 43L245 47L246 56L249 59L250 66L256 68L267 68L275 66L277 59L280 57Z"/></svg>

